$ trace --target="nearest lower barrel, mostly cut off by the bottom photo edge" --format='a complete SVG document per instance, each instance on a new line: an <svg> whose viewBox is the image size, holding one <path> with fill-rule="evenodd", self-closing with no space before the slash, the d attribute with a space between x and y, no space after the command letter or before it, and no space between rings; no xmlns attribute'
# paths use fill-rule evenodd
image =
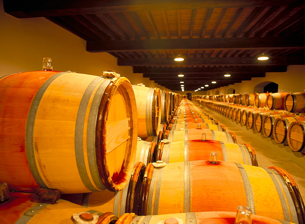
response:
<svg viewBox="0 0 305 224"><path fill-rule="evenodd" d="M237 209L237 208L236 208ZM126 224L137 223L137 224L156 224L166 223L166 221L177 220L176 223L209 223L209 224L225 224L235 223L236 212L186 212L166 215L140 215ZM244 220L244 219L243 219ZM253 224L289 224L278 219L271 219L260 215L251 215ZM180 222L178 222L180 221ZM124 222L125 223L125 222ZM174 222L173 222L174 223Z"/></svg>

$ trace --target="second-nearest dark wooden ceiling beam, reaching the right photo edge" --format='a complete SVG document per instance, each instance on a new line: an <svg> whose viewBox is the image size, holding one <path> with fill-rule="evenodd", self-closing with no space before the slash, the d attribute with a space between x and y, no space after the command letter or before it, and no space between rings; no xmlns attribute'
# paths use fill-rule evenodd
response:
<svg viewBox="0 0 305 224"><path fill-rule="evenodd" d="M305 49L304 37L227 37L87 41L89 52Z"/></svg>

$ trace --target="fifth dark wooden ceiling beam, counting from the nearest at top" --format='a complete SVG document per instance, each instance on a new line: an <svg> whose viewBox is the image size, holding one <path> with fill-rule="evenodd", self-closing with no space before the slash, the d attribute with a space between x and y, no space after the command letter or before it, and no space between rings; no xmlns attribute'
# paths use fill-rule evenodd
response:
<svg viewBox="0 0 305 224"><path fill-rule="evenodd" d="M143 74L143 78L177 78L178 74L167 74L167 73L149 73ZM265 73L261 72L261 73L235 73L233 75L233 73L231 74L231 76L235 77L235 78L243 78L243 77L265 77ZM206 73L188 73L187 75L185 75L184 77L197 77L197 78L204 78L204 79L213 79L213 78L221 78L224 79L224 74L223 73L219 73L219 74L206 74Z"/></svg>

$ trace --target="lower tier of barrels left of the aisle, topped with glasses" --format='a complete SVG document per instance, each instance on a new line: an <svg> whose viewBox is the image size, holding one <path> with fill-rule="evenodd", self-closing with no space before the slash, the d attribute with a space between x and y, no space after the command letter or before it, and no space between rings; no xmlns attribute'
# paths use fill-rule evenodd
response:
<svg viewBox="0 0 305 224"><path fill-rule="evenodd" d="M128 187L122 191L62 194L62 199L68 201L60 199L54 205L35 204L28 195L27 200L19 195L25 193L13 193L15 200L27 203L14 201L14 215L7 212L11 209L9 203L4 204L9 208L2 206L0 217L13 216L18 223L16 214L21 210L23 223L71 223L72 213L72 220L77 223L233 223L233 211L239 208L236 223L251 223L249 209L239 206L244 204L257 214L252 216L253 223L304 223L302 198L289 194L285 186L291 185L284 181L288 180L286 177L293 181L289 174L277 167L258 167L250 145L234 143L234 133L226 133L223 125L217 125L204 111L185 102L170 122L163 124L157 141L166 139L158 144L138 141L139 162ZM158 159L164 159L166 164ZM290 187L298 192L296 184Z"/></svg>

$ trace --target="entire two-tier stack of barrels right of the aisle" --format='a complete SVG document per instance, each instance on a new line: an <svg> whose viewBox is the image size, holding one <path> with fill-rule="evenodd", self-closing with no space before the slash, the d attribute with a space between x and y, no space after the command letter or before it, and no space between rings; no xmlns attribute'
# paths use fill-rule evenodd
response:
<svg viewBox="0 0 305 224"><path fill-rule="evenodd" d="M305 150L305 92L228 94L223 99L228 100L193 100L242 126L262 133L266 138L274 138L279 144L289 145L294 152Z"/></svg>

